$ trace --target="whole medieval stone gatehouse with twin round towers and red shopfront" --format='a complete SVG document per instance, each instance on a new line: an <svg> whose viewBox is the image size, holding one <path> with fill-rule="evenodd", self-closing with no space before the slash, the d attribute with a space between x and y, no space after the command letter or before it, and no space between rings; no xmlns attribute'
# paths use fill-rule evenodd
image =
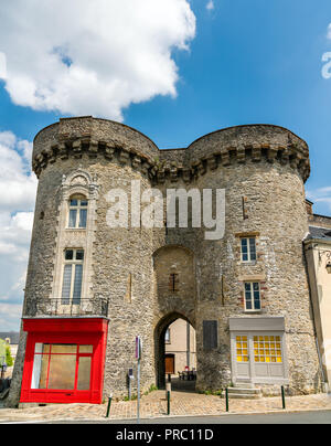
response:
<svg viewBox="0 0 331 446"><path fill-rule="evenodd" d="M160 150L122 124L66 118L36 135L32 162L39 189L9 404L125 395L136 336L142 390L162 386L164 333L178 318L196 332L197 390L320 391L302 139L252 125ZM141 224L132 195L169 189L225 191L224 234L209 240L192 205L186 227L166 216ZM117 214L128 211L128 227L109 224L114 190L127 197Z"/></svg>

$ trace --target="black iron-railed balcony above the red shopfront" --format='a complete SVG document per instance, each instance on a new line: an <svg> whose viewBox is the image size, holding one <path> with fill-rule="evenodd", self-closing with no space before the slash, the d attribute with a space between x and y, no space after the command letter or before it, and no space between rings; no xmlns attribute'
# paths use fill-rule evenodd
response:
<svg viewBox="0 0 331 446"><path fill-rule="evenodd" d="M25 317L108 317L109 301L107 299L29 299L25 302Z"/></svg>

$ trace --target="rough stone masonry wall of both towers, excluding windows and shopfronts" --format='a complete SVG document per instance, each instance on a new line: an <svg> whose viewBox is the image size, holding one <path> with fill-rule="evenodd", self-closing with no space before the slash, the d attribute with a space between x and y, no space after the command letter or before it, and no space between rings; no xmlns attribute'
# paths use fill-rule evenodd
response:
<svg viewBox="0 0 331 446"><path fill-rule="evenodd" d="M303 182L310 172L305 141L276 126L242 126L207 135L188 149L159 150L149 138L121 124L70 118L36 136L33 168L40 183L23 316L36 298L52 295L63 176L82 169L97 179L88 298L109 299L105 395L126 394L138 334L143 340L142 390L157 383L160 336L178 317L196 330L197 389L227 385L228 318L249 317L243 306L247 277L258 277L261 284L260 315L285 317L292 391L318 391L319 362L302 255L308 233ZM130 198L132 180L140 181L141 192L153 187L163 195L169 188L225 189L224 238L206 241L205 227L110 229L107 193L120 188ZM257 237L258 258L256 264L243 265L239 236L252 233ZM180 277L179 293L172 296L163 291L174 261L184 279ZM204 320L218 323L217 348L207 352ZM19 402L23 340L24 333L11 405Z"/></svg>

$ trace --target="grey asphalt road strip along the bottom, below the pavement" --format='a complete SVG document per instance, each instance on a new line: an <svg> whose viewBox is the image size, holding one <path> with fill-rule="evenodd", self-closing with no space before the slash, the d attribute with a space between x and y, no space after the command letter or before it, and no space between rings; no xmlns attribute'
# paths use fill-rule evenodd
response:
<svg viewBox="0 0 331 446"><path fill-rule="evenodd" d="M34 424L113 424L113 425L137 425L136 420L124 421L36 421ZM254 415L222 415L222 416L190 416L141 420L140 425L147 424L331 424L331 411L314 411L300 413L275 413Z"/></svg>

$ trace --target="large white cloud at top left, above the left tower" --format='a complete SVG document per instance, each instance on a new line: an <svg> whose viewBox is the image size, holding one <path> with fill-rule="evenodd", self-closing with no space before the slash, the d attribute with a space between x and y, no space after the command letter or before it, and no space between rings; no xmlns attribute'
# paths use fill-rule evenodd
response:
<svg viewBox="0 0 331 446"><path fill-rule="evenodd" d="M189 0L11 0L1 4L6 88L35 110L120 120L131 103L175 96L171 52L194 35Z"/></svg>

